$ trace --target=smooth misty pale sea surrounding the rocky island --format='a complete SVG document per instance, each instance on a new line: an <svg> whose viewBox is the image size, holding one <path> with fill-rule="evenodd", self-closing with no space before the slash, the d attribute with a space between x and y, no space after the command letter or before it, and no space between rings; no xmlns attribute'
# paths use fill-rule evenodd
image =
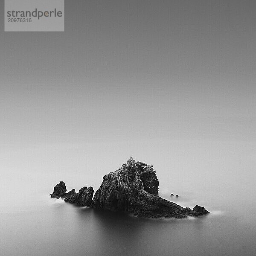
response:
<svg viewBox="0 0 256 256"><path fill-rule="evenodd" d="M10 146L1 151L0 255L255 255L255 143L136 143ZM151 220L49 197L60 180L68 190L93 186L96 191L102 176L130 155L154 166L160 196L183 207L199 204L211 214Z"/></svg>

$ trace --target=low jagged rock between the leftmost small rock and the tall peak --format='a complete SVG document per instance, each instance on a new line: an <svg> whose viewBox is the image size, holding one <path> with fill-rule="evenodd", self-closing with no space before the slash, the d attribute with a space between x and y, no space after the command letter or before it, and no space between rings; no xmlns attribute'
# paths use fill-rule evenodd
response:
<svg viewBox="0 0 256 256"><path fill-rule="evenodd" d="M93 187L82 187L79 189L78 193L75 192L71 195L67 195L64 201L69 202L70 204L77 204L79 206L92 206L93 192Z"/></svg>

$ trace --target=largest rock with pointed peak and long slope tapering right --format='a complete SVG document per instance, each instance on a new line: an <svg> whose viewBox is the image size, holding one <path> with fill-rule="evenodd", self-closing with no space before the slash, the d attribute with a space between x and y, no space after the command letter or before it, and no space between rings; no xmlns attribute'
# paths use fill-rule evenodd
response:
<svg viewBox="0 0 256 256"><path fill-rule="evenodd" d="M137 165L137 163L139 164ZM137 163L130 157L127 163L123 164L116 172L111 172L103 177L102 185L96 191L93 198L94 208L122 210L134 213L134 215L137 216L151 218L184 218L188 215L199 216L208 213L207 211L202 211L202 207L195 207L193 210L183 208L173 202L169 202L154 195L154 193L145 191L141 178L141 166L145 166L145 164ZM148 189L149 191L155 192L155 189L152 189L152 183L147 183L146 180L145 184L147 189L151 188ZM150 186L148 186L148 184Z"/></svg>

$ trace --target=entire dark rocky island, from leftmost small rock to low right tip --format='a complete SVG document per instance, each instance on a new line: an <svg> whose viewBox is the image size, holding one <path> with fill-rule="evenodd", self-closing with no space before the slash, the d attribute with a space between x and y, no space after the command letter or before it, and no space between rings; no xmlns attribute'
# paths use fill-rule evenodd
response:
<svg viewBox="0 0 256 256"><path fill-rule="evenodd" d="M146 218L185 218L209 213L204 207L196 205L193 209L183 208L157 195L158 179L153 166L135 162L130 157L115 172L103 177L100 188L93 198L93 187L72 189L67 193L61 181L53 189L52 198L65 198L66 202L95 209L124 211ZM92 199L93 198L93 199Z"/></svg>

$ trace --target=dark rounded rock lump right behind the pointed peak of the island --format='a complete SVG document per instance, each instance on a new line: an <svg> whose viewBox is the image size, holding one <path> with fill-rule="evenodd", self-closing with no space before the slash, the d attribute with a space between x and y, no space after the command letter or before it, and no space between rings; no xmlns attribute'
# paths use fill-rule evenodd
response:
<svg viewBox="0 0 256 256"><path fill-rule="evenodd" d="M150 194L156 195L158 193L159 182L153 166L141 162L137 162L136 166L142 180L144 190Z"/></svg>

